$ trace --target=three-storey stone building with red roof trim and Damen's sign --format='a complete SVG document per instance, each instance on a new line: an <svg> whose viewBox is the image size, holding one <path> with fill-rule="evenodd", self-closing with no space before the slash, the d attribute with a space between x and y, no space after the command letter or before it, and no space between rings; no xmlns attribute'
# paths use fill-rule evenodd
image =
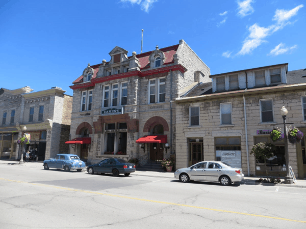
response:
<svg viewBox="0 0 306 229"><path fill-rule="evenodd" d="M210 69L179 44L141 54L115 47L110 61L84 69L73 81L70 152L91 163L139 158L141 163L175 153L175 104ZM169 148L165 147L169 144Z"/></svg>

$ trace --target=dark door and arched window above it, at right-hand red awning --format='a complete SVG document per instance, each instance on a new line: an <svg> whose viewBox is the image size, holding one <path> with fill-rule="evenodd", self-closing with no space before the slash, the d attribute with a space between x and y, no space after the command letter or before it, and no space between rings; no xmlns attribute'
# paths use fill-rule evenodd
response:
<svg viewBox="0 0 306 229"><path fill-rule="evenodd" d="M151 135L164 135L164 126L161 124L155 125L151 131ZM162 161L164 158L163 144L158 142L150 143L150 160L151 161Z"/></svg>

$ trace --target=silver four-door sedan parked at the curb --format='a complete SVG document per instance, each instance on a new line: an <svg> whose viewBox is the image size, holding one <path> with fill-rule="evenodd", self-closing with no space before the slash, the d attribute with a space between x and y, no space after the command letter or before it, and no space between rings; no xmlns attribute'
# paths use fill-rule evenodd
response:
<svg viewBox="0 0 306 229"><path fill-rule="evenodd" d="M221 161L201 161L188 168L177 169L174 178L186 183L189 181L213 181L221 185L230 185L242 181L244 174L242 168L233 168Z"/></svg>

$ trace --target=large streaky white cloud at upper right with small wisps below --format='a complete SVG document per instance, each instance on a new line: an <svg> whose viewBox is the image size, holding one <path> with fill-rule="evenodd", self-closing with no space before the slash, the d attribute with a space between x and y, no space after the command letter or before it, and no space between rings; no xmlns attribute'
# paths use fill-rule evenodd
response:
<svg viewBox="0 0 306 229"><path fill-rule="evenodd" d="M275 24L272 24L268 27L261 27L257 23L251 25L248 27L249 35L245 40L243 41L243 45L241 50L237 53L237 55L245 55L250 53L252 50L260 46L262 43L267 42L264 39L273 33L275 33L278 30L281 30L288 24L292 24L294 22L288 21L292 16L297 14L297 11L302 8L303 5L299 5L298 7L293 8L292 10L276 10L275 15L273 17L273 20L277 20ZM282 43L281 43L282 44ZM282 45L279 44L278 49L282 50ZM294 47L294 46L293 46ZM277 53L276 49L277 46L275 47L275 53ZM290 49L290 48L289 48ZM274 49L273 49L274 50ZM273 51L271 50L271 52ZM270 54L271 54L270 52ZM274 53L272 52L272 53Z"/></svg>

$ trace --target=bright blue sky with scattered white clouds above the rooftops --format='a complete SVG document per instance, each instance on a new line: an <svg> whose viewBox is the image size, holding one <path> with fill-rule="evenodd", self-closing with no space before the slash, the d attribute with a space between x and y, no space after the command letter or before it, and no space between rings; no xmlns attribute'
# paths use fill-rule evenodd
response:
<svg viewBox="0 0 306 229"><path fill-rule="evenodd" d="M87 64L178 44L211 74L289 63L306 68L302 0L0 0L0 88L35 91L69 85Z"/></svg>

